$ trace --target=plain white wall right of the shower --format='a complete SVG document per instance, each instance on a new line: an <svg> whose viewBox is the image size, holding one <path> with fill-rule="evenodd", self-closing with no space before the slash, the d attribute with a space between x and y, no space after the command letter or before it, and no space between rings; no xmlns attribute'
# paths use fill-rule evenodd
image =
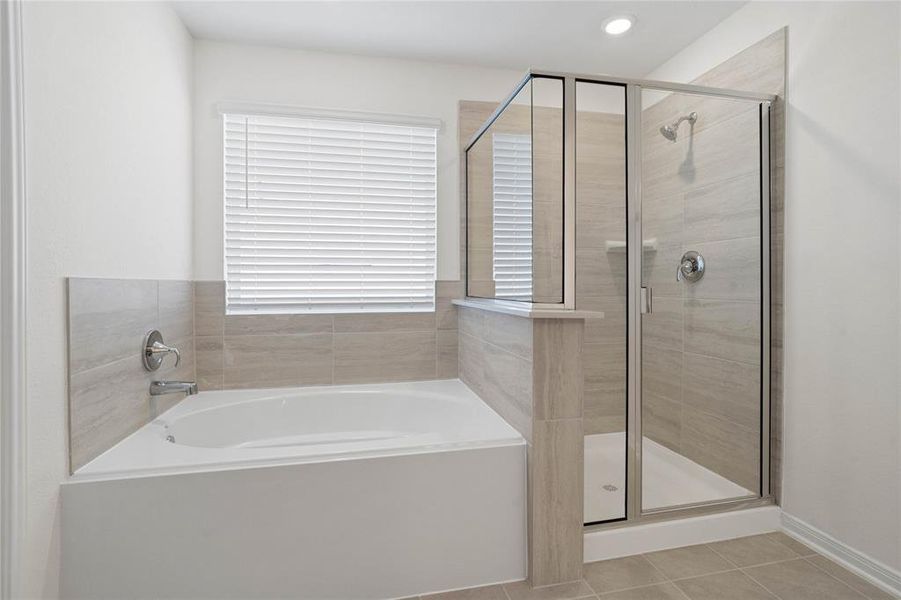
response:
<svg viewBox="0 0 901 600"><path fill-rule="evenodd" d="M901 568L897 3L751 3L649 75L789 27L784 509Z"/></svg>

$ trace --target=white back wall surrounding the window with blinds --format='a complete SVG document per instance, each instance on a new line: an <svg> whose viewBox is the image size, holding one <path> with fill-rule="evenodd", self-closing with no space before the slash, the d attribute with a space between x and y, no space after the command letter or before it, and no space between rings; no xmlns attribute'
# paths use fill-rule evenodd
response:
<svg viewBox="0 0 901 600"><path fill-rule="evenodd" d="M262 102L437 117L438 278L457 279L457 103L503 99L519 71L198 41L194 48L194 271L222 279L222 126L215 105Z"/></svg>

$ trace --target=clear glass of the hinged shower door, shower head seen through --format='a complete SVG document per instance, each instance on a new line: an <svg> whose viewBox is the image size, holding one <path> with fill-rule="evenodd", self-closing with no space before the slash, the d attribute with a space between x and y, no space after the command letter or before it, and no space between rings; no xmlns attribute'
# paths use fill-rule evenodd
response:
<svg viewBox="0 0 901 600"><path fill-rule="evenodd" d="M642 509L760 494L756 102L642 97Z"/></svg>

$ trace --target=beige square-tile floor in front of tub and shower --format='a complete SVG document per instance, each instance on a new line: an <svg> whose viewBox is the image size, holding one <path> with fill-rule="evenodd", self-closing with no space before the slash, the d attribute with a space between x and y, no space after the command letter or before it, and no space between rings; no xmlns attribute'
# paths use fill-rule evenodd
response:
<svg viewBox="0 0 901 600"><path fill-rule="evenodd" d="M582 581L525 582L420 600L884 600L893 596L783 533L587 563Z"/></svg>

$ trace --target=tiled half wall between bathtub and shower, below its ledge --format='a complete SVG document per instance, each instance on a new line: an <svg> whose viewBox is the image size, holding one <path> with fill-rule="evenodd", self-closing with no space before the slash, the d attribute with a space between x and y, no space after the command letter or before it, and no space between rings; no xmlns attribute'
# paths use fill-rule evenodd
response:
<svg viewBox="0 0 901 600"><path fill-rule="evenodd" d="M460 379L529 442L529 581L578 579L584 320L458 310Z"/></svg>

